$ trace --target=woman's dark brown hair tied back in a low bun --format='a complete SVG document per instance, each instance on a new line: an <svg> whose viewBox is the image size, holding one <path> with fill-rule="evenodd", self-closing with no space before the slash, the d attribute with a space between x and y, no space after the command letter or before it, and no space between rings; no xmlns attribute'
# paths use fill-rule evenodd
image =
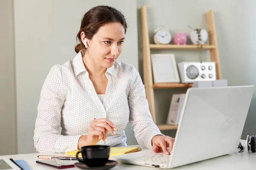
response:
<svg viewBox="0 0 256 170"><path fill-rule="evenodd" d="M81 20L80 31L76 36L76 40L79 41L75 47L76 53L79 53L82 49L86 49L81 40L82 31L84 31L86 38L91 40L99 28L108 23L122 24L126 33L127 23L125 17L116 8L110 6L96 6L87 11Z"/></svg>

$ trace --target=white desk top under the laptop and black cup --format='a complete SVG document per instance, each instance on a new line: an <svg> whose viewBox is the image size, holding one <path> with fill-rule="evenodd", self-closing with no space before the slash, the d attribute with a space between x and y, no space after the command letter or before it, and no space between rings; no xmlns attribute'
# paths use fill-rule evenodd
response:
<svg viewBox="0 0 256 170"><path fill-rule="evenodd" d="M241 144L245 146L246 141L241 140ZM138 146L138 145L136 145ZM146 148L142 147L142 150ZM23 159L33 170L57 170L56 168L47 167L42 164L37 164L35 161L38 159L38 155L49 155L49 153L30 153L30 154L20 154L20 155L8 155L0 156L3 158L12 158L14 160ZM65 154L54 154L54 155L65 155ZM76 162L76 161L75 161ZM205 161L200 161L197 163L181 166L174 168L175 170L253 170L256 167L256 153L248 153L247 150L241 153L232 153L225 156L220 156L213 159L208 159ZM67 170L76 170L78 168L67 168ZM119 163L116 167L111 170L156 170L154 167L143 167L130 164Z"/></svg>

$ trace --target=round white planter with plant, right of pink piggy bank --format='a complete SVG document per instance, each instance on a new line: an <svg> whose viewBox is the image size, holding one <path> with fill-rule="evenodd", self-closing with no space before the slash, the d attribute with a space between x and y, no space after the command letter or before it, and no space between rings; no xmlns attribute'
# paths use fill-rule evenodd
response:
<svg viewBox="0 0 256 170"><path fill-rule="evenodd" d="M189 28L193 29L191 26ZM202 28L195 28L190 33L190 40L195 45L203 45L208 39L208 31Z"/></svg>

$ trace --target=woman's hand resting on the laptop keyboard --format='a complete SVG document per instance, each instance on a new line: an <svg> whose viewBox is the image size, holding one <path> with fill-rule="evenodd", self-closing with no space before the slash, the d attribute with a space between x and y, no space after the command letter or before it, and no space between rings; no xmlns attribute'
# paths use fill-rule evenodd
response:
<svg viewBox="0 0 256 170"><path fill-rule="evenodd" d="M153 151L158 152L160 149L162 149L163 153L165 153L166 155L169 155L171 153L173 143L174 138L163 135L154 136L151 140ZM169 151L167 150L167 147L169 147Z"/></svg>

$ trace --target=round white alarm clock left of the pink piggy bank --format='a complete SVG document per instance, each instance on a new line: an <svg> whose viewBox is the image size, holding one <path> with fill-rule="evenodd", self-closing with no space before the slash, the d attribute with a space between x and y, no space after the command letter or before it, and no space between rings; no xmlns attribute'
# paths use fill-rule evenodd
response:
<svg viewBox="0 0 256 170"><path fill-rule="evenodd" d="M164 27L155 29L154 43L155 44L169 44L172 40L172 35L169 30Z"/></svg>

